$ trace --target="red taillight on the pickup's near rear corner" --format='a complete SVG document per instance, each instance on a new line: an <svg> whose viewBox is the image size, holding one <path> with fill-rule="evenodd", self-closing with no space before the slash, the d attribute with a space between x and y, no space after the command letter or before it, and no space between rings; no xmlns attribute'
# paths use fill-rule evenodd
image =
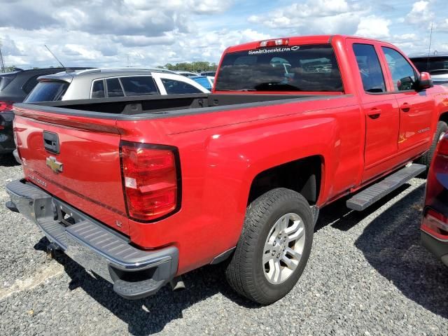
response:
<svg viewBox="0 0 448 336"><path fill-rule="evenodd" d="M151 222L180 207L179 153L171 146L121 142L123 188L127 213Z"/></svg>

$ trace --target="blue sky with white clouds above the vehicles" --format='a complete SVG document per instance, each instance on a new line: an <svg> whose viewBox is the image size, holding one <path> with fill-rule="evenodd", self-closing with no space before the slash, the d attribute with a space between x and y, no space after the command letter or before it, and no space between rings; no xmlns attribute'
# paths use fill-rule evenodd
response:
<svg viewBox="0 0 448 336"><path fill-rule="evenodd" d="M219 62L230 45L349 34L448 52L447 0L0 0L6 66Z"/></svg>

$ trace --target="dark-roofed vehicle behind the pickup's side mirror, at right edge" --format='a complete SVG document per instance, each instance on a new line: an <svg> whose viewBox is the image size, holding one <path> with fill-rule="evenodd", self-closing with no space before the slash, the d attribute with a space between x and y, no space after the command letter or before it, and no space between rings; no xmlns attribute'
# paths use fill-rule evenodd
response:
<svg viewBox="0 0 448 336"><path fill-rule="evenodd" d="M434 84L448 85L448 54L409 57L420 72L429 72Z"/></svg>

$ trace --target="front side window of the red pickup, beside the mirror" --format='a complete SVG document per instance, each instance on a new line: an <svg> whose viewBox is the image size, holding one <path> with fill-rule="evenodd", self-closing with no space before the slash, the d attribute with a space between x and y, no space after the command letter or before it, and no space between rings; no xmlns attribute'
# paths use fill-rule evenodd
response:
<svg viewBox="0 0 448 336"><path fill-rule="evenodd" d="M416 74L411 64L397 50L381 48L391 71L393 89L395 91L414 90Z"/></svg>

